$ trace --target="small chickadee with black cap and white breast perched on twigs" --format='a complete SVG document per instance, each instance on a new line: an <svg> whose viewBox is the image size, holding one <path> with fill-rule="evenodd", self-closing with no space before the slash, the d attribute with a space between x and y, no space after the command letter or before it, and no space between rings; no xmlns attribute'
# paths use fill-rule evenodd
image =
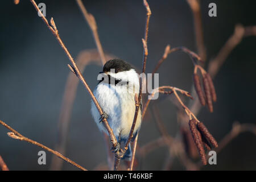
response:
<svg viewBox="0 0 256 182"><path fill-rule="evenodd" d="M109 126L113 130L118 143L114 152L120 150L126 143L133 124L135 113L135 94L139 93L139 75L129 63L121 59L112 59L105 63L103 71L97 78L98 84L93 90L98 104L101 106L104 114L98 113L97 107L92 101L91 113L98 129L108 134L102 122L106 118ZM134 127L132 141L141 128L142 121L142 101L139 104L137 122ZM123 155L124 160L130 161L132 158L131 146Z"/></svg>

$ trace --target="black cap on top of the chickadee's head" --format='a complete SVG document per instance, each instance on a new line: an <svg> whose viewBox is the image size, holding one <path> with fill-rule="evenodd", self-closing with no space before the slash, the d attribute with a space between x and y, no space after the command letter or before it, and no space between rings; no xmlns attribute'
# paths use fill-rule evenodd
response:
<svg viewBox="0 0 256 182"><path fill-rule="evenodd" d="M121 59L112 59L105 63L103 72L110 72L110 69L115 69L115 73L129 71L133 69L129 63Z"/></svg>

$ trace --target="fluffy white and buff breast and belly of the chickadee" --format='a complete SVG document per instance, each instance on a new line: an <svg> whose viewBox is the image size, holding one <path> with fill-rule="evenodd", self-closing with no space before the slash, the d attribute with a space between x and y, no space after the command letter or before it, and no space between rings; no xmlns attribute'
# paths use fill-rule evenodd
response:
<svg viewBox="0 0 256 182"><path fill-rule="evenodd" d="M97 85L93 92L102 110L109 116L108 122L115 137L120 135L121 138L127 138L130 133L135 113L134 96L135 93L138 93L138 82L136 82L136 85L134 92L128 92L125 86L109 85L102 82ZM100 114L93 102L92 115L99 129L107 133L104 124L100 123ZM140 126L141 110L139 110L134 133Z"/></svg>

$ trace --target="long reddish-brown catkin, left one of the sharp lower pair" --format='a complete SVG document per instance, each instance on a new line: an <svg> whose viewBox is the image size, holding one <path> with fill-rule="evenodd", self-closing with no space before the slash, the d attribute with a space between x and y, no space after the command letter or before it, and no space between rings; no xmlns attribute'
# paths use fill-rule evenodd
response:
<svg viewBox="0 0 256 182"><path fill-rule="evenodd" d="M202 141L202 138L201 138L201 134L196 128L196 120L191 119L188 122L188 124L189 124L189 128L191 130L193 140L196 144L197 150L199 151L199 154L201 156L202 163L204 165L206 165L207 164L207 159L206 159L206 156L205 156L205 151L204 151L204 146L203 146L203 141Z"/></svg>

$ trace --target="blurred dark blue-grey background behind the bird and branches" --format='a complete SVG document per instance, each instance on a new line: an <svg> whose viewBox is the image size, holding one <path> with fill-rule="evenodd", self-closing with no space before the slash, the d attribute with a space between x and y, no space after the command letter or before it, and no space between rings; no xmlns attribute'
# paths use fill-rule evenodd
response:
<svg viewBox="0 0 256 182"><path fill-rule="evenodd" d="M88 24L75 1L36 1L46 3L46 18L53 17L63 42L76 57L84 49L96 48ZM142 1L83 1L96 18L104 50L142 65L142 42L146 10ZM217 18L208 16L210 2L217 4ZM148 38L147 72L151 72L167 44L185 46L196 51L191 9L185 0L148 0L152 16ZM237 23L256 24L255 1L201 1L204 42L208 60L233 34ZM70 72L68 58L54 36L37 15L30 1L2 1L0 30L0 119L24 136L54 148L57 121L65 82ZM232 51L214 79L218 101L214 113L203 108L199 114L219 141L232 129L232 123L255 123L256 38L244 38ZM96 65L85 69L91 89L97 84ZM185 53L172 53L159 69L159 85L172 85L191 90L193 65ZM178 127L176 108L170 102L159 105L167 130L175 136ZM159 137L154 121L144 122L139 136L143 145ZM10 170L47 170L52 154L47 152L47 165L38 165L41 148L7 137L0 126L0 155ZM159 170L166 159L167 148L159 148L144 159L141 169ZM256 169L256 137L242 133L217 155L217 165L202 169ZM90 114L90 97L80 84L72 110L69 128L68 158L87 169L106 163L104 140ZM64 163L64 170L77 170ZM184 169L175 161L173 169Z"/></svg>

